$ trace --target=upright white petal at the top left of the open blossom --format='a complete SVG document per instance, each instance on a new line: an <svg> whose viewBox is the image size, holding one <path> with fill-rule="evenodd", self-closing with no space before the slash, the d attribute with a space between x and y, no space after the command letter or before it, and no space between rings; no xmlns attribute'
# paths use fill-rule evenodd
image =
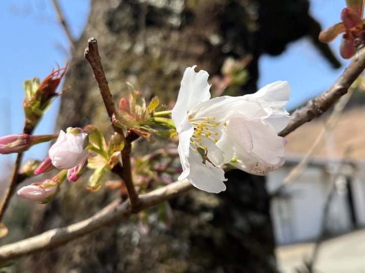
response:
<svg viewBox="0 0 365 273"><path fill-rule="evenodd" d="M172 120L175 123L177 131L179 131L181 124L188 116L188 112L197 104L207 101L210 98L209 74L204 70L196 73L194 71L195 67L188 67L185 70L176 104L172 109Z"/></svg>

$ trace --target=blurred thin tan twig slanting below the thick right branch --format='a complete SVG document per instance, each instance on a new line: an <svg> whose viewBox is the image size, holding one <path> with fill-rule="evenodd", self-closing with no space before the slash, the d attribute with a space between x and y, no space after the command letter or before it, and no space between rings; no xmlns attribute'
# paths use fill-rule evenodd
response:
<svg viewBox="0 0 365 273"><path fill-rule="evenodd" d="M285 187L291 185L294 181L296 181L296 179L308 167L313 156L322 148L324 141L325 141L326 133L333 130L333 128L339 121L339 119L341 117L341 113L342 113L343 109L345 108L346 104L348 103L352 93L353 93L353 89L350 88L347 95L343 96L339 100L339 102L335 105L331 116L324 123L323 128L317 135L317 138L316 138L314 144L312 145L312 147L309 149L309 151L303 157L302 161L286 175L282 184L270 195L271 197L280 195L282 190Z"/></svg>

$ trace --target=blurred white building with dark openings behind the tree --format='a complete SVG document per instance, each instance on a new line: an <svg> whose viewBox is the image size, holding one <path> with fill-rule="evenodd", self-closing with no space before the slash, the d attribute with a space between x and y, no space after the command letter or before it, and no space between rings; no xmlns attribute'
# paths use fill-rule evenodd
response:
<svg viewBox="0 0 365 273"><path fill-rule="evenodd" d="M282 184L301 158L286 157L285 165L267 176L269 193ZM339 169L341 166L341 169ZM334 175L337 178L334 179ZM313 241L321 229L327 195L335 181L326 231L338 235L365 226L365 163L315 159L308 168L271 199L271 215L278 245Z"/></svg>

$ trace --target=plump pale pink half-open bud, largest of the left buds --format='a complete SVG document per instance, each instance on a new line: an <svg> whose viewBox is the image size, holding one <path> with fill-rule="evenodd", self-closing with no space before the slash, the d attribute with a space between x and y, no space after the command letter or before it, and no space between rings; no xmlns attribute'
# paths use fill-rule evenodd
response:
<svg viewBox="0 0 365 273"><path fill-rule="evenodd" d="M58 169L70 169L85 160L89 152L87 133L65 133L60 131L58 139L49 150L53 166Z"/></svg>

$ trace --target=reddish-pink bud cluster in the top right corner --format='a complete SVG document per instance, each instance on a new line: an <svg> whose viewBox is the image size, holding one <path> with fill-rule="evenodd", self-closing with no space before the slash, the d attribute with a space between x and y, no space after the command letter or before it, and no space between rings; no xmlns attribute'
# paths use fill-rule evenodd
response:
<svg viewBox="0 0 365 273"><path fill-rule="evenodd" d="M347 7L341 12L342 22L330 26L319 33L321 42L330 42L340 33L342 35L340 54L349 59L356 52L356 45L365 40L364 0L346 0Z"/></svg>

